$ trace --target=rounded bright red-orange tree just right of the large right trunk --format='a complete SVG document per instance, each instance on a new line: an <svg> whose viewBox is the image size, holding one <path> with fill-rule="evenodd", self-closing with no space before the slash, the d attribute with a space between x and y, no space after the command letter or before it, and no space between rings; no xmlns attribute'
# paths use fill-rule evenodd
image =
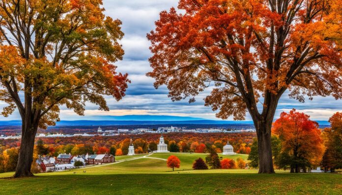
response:
<svg viewBox="0 0 342 195"><path fill-rule="evenodd" d="M324 152L323 140L320 137L318 123L311 121L310 116L296 112L281 113L272 127L272 133L282 142L280 162L283 167L290 166L291 172L299 172L302 168L319 165Z"/></svg>

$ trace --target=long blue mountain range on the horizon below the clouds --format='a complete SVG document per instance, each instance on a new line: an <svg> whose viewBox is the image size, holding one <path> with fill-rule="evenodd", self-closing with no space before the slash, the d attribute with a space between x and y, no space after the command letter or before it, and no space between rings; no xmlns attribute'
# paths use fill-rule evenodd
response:
<svg viewBox="0 0 342 195"><path fill-rule="evenodd" d="M93 118L92 118L93 119ZM56 126L99 126L99 125L155 125L155 124L253 124L253 121L216 121L194 117L164 115L101 116L96 120L60 121ZM320 126L329 126L327 121L316 121ZM21 121L0 121L0 126L18 126Z"/></svg>

